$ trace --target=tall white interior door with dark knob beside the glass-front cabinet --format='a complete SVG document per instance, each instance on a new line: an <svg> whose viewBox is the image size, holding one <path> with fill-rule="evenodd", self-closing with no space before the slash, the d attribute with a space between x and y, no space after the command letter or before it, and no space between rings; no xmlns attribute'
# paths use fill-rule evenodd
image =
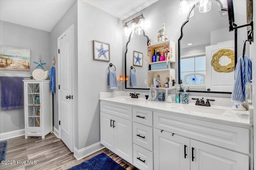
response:
<svg viewBox="0 0 256 170"><path fill-rule="evenodd" d="M59 134L73 152L73 35L74 25L58 38Z"/></svg>

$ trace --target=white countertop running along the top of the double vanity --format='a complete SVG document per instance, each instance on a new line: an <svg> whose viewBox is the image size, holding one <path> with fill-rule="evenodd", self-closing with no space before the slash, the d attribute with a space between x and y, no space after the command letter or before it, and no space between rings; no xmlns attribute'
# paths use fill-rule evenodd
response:
<svg viewBox="0 0 256 170"><path fill-rule="evenodd" d="M128 98L127 96L118 96L116 98ZM172 115L176 115L176 116L181 116L181 117L187 117L187 118L192 118L192 119L198 119L198 120L202 120L202 121L209 121L209 122L214 122L214 123L222 123L225 125L233 125L233 126L238 126L238 127L244 127L244 128L249 128L252 127L252 124L249 123L250 122L250 118L248 119L241 119L237 116L231 116L233 117L233 120L229 120L228 118L230 118L228 115L214 115L214 114L207 114L204 113L204 115L196 115L196 114L192 114L192 113L182 113L182 110L174 110L174 111L170 111L170 110L166 110L166 109L162 109L162 108L154 108L154 107L148 107L148 106L142 106L139 103L137 104L133 104L133 103L129 103L129 102L124 102L124 101L116 101L116 98L101 98L100 100L104 101L104 102L111 102L111 103L115 103L115 104L122 104L122 105L126 105L126 106L132 106L132 107L136 107L136 108L142 108L142 109L147 109L150 111L158 111L158 112L162 112L162 113L167 113L167 114L172 114ZM144 98L139 98L142 100L145 100ZM136 99L135 99L136 100ZM146 102L147 100L145 100ZM158 101L149 101L149 102L158 102ZM161 103L162 105L168 105L169 103L165 103L165 102L158 102ZM176 104L176 103L175 103ZM182 105L182 104L178 104L178 105ZM202 106L204 107L204 106ZM218 107L218 106L216 106ZM231 108L229 107L219 107L219 108L225 108L228 109L228 111L231 111ZM241 114L249 114L248 111L236 111L237 113L241 113Z"/></svg>

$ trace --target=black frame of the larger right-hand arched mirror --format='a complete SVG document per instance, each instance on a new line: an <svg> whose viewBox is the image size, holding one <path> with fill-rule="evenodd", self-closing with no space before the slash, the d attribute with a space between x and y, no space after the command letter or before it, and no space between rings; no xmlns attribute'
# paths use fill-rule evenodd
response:
<svg viewBox="0 0 256 170"><path fill-rule="evenodd" d="M223 7L223 4L220 0L216 0L219 4L220 4L220 10L222 11L227 11L228 12L228 8L224 8ZM187 20L182 24L181 26L181 34L180 34L180 38L178 39L178 82L180 83L180 40L182 39L183 37L183 27L186 25L186 23L188 23L189 21L189 16L190 16L190 13L192 12L192 10L196 7L196 5L194 4L191 8L190 8L190 11L188 12L188 16L187 16ZM234 37L234 42L235 42L235 64L237 62L237 30L235 30L235 37ZM183 91L183 90L180 90L180 91ZM198 91L198 90L189 90L188 92L200 92L200 93L222 93L222 94L232 94L232 92L214 92L214 91Z"/></svg>

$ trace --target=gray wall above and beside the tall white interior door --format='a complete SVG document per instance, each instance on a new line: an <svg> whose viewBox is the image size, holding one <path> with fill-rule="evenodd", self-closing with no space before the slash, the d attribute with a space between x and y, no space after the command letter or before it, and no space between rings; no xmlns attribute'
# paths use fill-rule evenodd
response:
<svg viewBox="0 0 256 170"><path fill-rule="evenodd" d="M53 125L58 129L58 37L66 31L72 24L74 24L74 63L77 63L77 1L70 7L66 14L61 18L60 21L54 26L50 32L50 54L55 56L56 59L56 70L55 70L55 84L56 94L53 97ZM77 66L74 65L74 80L77 80ZM74 90L77 90L77 84L74 83ZM75 95L76 94L76 95ZM77 96L77 92L74 93ZM76 103L74 97L74 103ZM76 107L74 107L76 109ZM76 110L75 110L76 111Z"/></svg>

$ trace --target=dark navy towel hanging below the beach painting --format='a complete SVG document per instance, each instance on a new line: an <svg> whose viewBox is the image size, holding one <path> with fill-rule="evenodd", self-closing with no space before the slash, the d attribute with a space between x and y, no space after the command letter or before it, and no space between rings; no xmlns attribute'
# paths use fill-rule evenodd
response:
<svg viewBox="0 0 256 170"><path fill-rule="evenodd" d="M21 109L23 104L24 77L0 77L2 110Z"/></svg>

